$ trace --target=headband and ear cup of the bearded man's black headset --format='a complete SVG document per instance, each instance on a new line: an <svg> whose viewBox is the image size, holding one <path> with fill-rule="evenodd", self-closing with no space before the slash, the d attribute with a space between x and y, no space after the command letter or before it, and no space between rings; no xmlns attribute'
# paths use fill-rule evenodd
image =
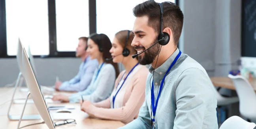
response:
<svg viewBox="0 0 256 129"><path fill-rule="evenodd" d="M166 44L168 44L168 42L170 40L170 35L166 32L162 32L163 31L163 20L164 20L164 7L163 7L162 3L158 3L158 4L160 5L160 9L161 9L160 33L158 35L158 40L164 39L158 43L160 45L166 45Z"/></svg>

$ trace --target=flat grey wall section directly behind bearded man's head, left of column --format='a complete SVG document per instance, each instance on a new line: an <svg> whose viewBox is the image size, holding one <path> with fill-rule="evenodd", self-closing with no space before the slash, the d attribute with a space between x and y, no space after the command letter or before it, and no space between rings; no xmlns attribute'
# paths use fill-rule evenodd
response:
<svg viewBox="0 0 256 129"><path fill-rule="evenodd" d="M179 45L213 76L215 48L215 0L180 0L184 14Z"/></svg>

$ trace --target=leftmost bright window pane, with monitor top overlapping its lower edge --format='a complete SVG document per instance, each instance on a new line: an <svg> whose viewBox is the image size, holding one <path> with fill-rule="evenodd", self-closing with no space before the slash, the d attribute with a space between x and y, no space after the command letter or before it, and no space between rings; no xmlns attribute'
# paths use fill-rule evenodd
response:
<svg viewBox="0 0 256 129"><path fill-rule="evenodd" d="M49 55L47 0L6 0L7 54L17 54L18 38L32 55Z"/></svg>

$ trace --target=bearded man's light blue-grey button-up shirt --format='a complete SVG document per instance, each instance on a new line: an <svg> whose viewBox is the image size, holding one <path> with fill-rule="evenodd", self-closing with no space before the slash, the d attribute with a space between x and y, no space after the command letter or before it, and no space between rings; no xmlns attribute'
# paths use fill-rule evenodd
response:
<svg viewBox="0 0 256 129"><path fill-rule="evenodd" d="M168 67L178 55L177 49L154 72L154 98ZM136 120L120 129L152 129L151 84L154 68L149 68L146 99ZM181 54L167 74L155 121L158 129L218 129L216 92L205 69L186 54ZM160 91L159 91L160 92Z"/></svg>

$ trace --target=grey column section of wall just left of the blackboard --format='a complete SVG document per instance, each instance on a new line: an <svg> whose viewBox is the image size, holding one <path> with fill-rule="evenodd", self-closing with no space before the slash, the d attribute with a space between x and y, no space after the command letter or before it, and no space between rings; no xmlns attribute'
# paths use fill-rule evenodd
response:
<svg viewBox="0 0 256 129"><path fill-rule="evenodd" d="M241 57L241 0L216 3L215 76L227 76Z"/></svg>

